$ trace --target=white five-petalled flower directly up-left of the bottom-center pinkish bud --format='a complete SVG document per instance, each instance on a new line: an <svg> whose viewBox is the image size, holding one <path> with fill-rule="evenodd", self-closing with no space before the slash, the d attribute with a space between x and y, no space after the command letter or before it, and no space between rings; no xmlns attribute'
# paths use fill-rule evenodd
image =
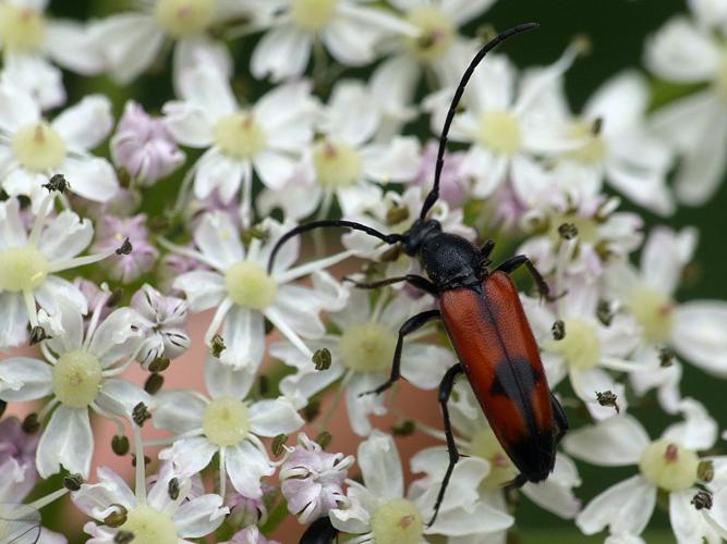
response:
<svg viewBox="0 0 727 544"><path fill-rule="evenodd" d="M154 424L178 436L159 458L173 461L184 474L194 474L218 454L220 495L225 496L229 477L241 495L262 497L260 478L271 475L275 463L259 436L291 433L303 425L303 419L284 397L245 400L255 378L249 369L237 370L208 357L205 383L209 398L197 392L158 393Z"/></svg>

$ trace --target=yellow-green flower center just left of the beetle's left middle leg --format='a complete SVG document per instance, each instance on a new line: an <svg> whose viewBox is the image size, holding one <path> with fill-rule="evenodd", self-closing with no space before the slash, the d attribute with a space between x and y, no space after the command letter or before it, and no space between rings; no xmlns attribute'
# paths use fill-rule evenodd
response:
<svg viewBox="0 0 727 544"><path fill-rule="evenodd" d="M385 372L391 367L397 334L380 323L354 325L341 335L341 362L356 372Z"/></svg>

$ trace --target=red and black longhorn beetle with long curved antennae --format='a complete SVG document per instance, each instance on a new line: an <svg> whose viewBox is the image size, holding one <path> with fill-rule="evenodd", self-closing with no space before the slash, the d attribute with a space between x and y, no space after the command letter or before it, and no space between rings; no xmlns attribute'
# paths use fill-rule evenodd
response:
<svg viewBox="0 0 727 544"><path fill-rule="evenodd" d="M364 395L383 393L399 380L404 336L432 320L444 321L460 360L445 373L439 384L439 404L449 449L449 466L429 524L434 523L437 517L447 484L460 457L447 409L458 374L467 375L495 436L520 471L513 482L516 485L540 482L548 477L555 463L556 446L568 429L562 407L548 388L537 344L509 274L524 264L541 296L552 299L543 276L524 255L514 256L490 268L489 254L495 246L493 239L477 248L461 236L443 232L438 221L426 217L439 196L447 135L475 67L498 44L537 26L535 23L528 23L504 32L486 44L464 71L439 138L434 187L424 200L419 219L407 232L384 234L352 221L314 221L286 233L276 244L268 261L270 272L276 254L288 239L314 228L329 226L362 231L385 244L399 244L407 255L421 260L428 279L407 274L372 283L353 283L361 288L376 288L407 282L438 300L438 309L417 313L401 325L390 378Z"/></svg>

